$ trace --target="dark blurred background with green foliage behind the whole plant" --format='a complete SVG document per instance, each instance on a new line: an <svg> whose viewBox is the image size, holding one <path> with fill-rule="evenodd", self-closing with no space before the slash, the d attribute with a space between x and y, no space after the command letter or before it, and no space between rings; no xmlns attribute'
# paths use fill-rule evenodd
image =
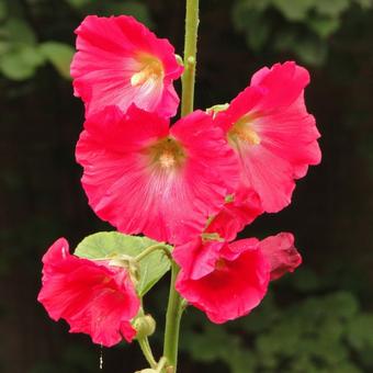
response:
<svg viewBox="0 0 373 373"><path fill-rule="evenodd" d="M74 149L83 108L68 67L87 14L134 14L182 54L181 0L0 0L0 372L132 373L138 348L93 346L36 302L41 257L65 236L111 230L87 204ZM304 264L250 316L215 326L188 309L181 373L373 372L371 0L202 0L196 108L229 102L260 67L295 59L323 163L293 203L242 237L293 231ZM180 87L179 87L180 88ZM285 88L284 88L285 89ZM160 352L168 279L147 299ZM158 346L158 348L157 348Z"/></svg>

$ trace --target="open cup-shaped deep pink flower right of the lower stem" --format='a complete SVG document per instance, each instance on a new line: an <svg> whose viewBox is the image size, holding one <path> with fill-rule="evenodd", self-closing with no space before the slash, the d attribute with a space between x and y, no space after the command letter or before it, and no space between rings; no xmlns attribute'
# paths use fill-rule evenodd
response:
<svg viewBox="0 0 373 373"><path fill-rule="evenodd" d="M256 238L203 241L173 250L181 265L176 289L216 324L247 315L267 293L270 265Z"/></svg>

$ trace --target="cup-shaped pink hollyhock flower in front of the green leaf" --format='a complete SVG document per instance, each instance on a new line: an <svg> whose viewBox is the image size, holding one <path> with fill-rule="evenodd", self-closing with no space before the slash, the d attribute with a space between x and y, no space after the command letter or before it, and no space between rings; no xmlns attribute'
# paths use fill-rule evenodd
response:
<svg viewBox="0 0 373 373"><path fill-rule="evenodd" d="M43 263L37 299L50 318L64 318L70 332L88 334L105 347L122 338L132 341L136 331L129 321L140 304L126 270L71 256L64 238L50 246Z"/></svg>

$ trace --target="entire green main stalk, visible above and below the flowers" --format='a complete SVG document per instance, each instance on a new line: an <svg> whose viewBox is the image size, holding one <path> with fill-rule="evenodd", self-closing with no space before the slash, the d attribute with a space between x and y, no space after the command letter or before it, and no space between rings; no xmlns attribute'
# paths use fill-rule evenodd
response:
<svg viewBox="0 0 373 373"><path fill-rule="evenodd" d="M182 76L181 116L193 112L194 81L196 65L196 39L199 29L199 0L187 0L184 74ZM170 294L166 314L163 357L167 359L167 372L177 372L179 330L184 308L183 299L174 289L179 267L172 261Z"/></svg>

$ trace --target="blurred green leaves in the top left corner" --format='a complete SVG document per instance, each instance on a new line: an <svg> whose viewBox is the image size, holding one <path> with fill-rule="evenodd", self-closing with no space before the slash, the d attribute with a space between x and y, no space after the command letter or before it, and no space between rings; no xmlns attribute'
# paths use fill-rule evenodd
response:
<svg viewBox="0 0 373 373"><path fill-rule="evenodd" d="M30 79L47 63L64 78L70 78L74 46L44 39L43 32L33 26L46 3L45 0L0 0L0 72L8 79ZM151 25L147 7L138 1L66 0L58 7L80 14L132 14Z"/></svg>

